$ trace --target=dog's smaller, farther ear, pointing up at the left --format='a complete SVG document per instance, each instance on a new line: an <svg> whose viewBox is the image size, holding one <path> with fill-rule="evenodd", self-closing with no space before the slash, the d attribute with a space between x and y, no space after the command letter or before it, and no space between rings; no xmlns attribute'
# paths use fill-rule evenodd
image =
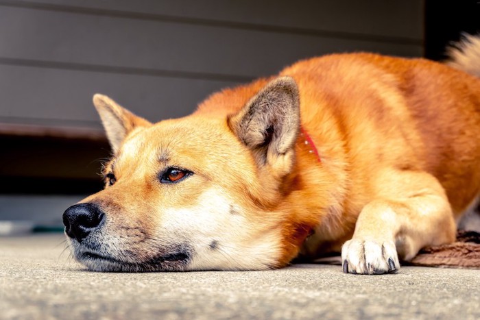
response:
<svg viewBox="0 0 480 320"><path fill-rule="evenodd" d="M147 120L122 108L118 103L105 95L99 95L98 93L94 95L93 104L100 115L101 123L104 125L113 153L117 153L123 139L135 127L152 125Z"/></svg>

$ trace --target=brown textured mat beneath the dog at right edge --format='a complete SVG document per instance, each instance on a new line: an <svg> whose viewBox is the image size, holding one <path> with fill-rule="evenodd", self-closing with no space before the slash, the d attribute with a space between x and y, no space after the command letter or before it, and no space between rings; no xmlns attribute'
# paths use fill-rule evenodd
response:
<svg viewBox="0 0 480 320"><path fill-rule="evenodd" d="M426 247L407 264L424 267L480 269L480 233L457 232L457 241L449 245Z"/></svg>

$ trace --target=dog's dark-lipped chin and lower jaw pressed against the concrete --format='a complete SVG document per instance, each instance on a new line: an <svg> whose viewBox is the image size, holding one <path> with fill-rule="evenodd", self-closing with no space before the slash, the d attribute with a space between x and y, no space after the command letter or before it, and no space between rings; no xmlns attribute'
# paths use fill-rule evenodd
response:
<svg viewBox="0 0 480 320"><path fill-rule="evenodd" d="M87 251L75 253L75 259L84 264L90 271L97 272L158 272L158 271L186 271L190 255L187 252L175 252L163 256L156 256L145 261L123 261L112 256L96 254ZM129 259L130 260L130 259Z"/></svg>

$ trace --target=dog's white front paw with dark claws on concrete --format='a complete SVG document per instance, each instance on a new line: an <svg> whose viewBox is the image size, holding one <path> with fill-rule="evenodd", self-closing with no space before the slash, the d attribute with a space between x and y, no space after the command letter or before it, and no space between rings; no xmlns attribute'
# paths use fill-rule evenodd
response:
<svg viewBox="0 0 480 320"><path fill-rule="evenodd" d="M341 247L344 273L383 274L400 269L395 243L352 239Z"/></svg>

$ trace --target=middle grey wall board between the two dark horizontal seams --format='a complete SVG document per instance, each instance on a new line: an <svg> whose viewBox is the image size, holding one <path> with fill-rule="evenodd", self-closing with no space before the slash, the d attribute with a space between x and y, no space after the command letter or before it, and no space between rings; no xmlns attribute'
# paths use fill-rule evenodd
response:
<svg viewBox="0 0 480 320"><path fill-rule="evenodd" d="M0 7L0 57L256 77L310 56L420 45Z"/></svg>

